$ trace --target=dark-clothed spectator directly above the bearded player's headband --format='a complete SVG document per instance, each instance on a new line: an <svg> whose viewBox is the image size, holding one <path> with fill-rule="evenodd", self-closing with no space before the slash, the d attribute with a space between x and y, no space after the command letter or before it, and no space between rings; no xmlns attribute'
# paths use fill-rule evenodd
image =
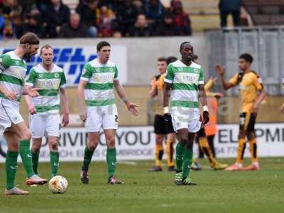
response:
<svg viewBox="0 0 284 213"><path fill-rule="evenodd" d="M40 16L38 9L33 9L28 13L27 23L23 26L24 33L35 33L39 38L45 37L45 28L43 27L43 18Z"/></svg>

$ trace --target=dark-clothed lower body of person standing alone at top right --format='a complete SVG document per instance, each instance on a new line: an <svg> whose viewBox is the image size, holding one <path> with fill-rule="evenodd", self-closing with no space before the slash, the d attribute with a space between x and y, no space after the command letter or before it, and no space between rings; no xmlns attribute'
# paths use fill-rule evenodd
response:
<svg viewBox="0 0 284 213"><path fill-rule="evenodd" d="M226 19L229 14L233 16L234 26L240 25L240 10L241 10L242 0L220 0L219 10L220 10L220 20L221 27L226 27Z"/></svg>

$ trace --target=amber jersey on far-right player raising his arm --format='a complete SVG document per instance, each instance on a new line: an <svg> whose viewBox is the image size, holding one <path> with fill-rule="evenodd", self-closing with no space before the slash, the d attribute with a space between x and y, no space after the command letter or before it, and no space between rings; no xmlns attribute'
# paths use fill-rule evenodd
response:
<svg viewBox="0 0 284 213"><path fill-rule="evenodd" d="M261 77L256 72L237 73L229 80L234 86L239 84L240 112L253 111L253 105L258 98L258 91L263 88Z"/></svg>

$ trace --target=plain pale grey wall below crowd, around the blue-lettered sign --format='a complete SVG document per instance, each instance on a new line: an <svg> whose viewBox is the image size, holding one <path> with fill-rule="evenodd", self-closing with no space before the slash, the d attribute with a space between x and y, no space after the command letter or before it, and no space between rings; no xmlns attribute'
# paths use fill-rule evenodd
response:
<svg viewBox="0 0 284 213"><path fill-rule="evenodd" d="M53 39L40 40L40 45L89 46L97 45L101 40L107 40L111 45L126 46L126 84L149 84L151 77L157 73L155 71L156 59L172 55L180 58L180 43L184 41L193 43L195 53L200 56L200 64L202 67L207 67L205 38L202 34L192 37ZM15 48L16 45L18 45L18 40L0 41L1 48ZM205 69L204 72L207 73Z"/></svg>

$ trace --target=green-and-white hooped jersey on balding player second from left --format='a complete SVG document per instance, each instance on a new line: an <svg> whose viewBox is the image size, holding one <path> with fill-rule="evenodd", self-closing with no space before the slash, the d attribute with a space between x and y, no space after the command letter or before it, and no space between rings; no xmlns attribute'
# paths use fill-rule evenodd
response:
<svg viewBox="0 0 284 213"><path fill-rule="evenodd" d="M53 64L51 71L45 70L41 64L31 68L27 86L40 88L38 97L32 98L37 114L57 114L60 111L59 89L66 84L65 74L61 67Z"/></svg>

